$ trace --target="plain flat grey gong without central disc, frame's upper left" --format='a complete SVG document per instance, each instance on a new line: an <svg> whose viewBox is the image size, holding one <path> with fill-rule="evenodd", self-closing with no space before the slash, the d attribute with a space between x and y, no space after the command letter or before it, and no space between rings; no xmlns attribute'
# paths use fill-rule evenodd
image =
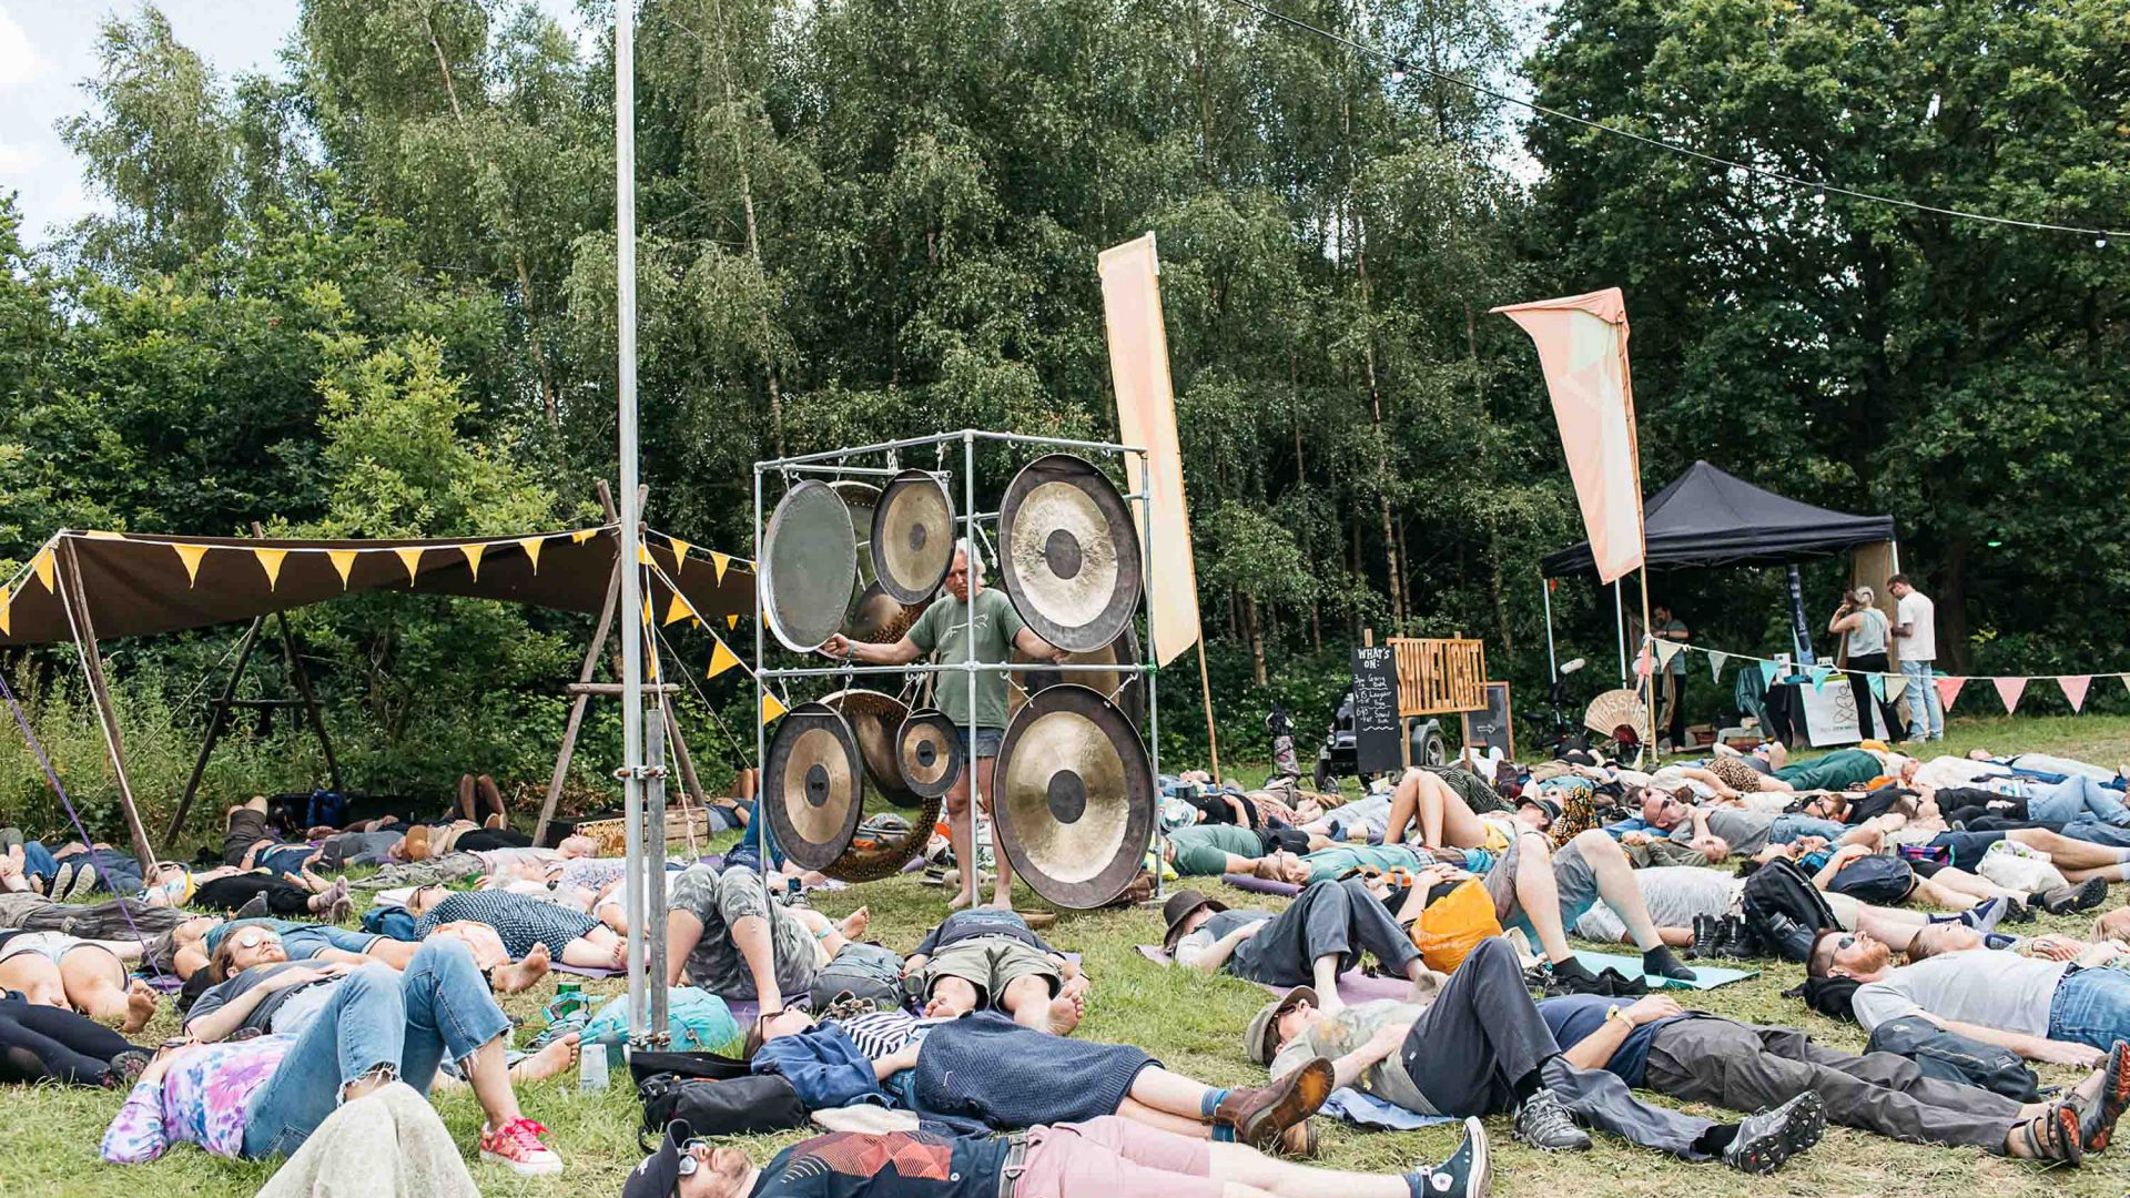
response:
<svg viewBox="0 0 2130 1198"><path fill-rule="evenodd" d="M850 509L824 482L803 480L777 501L763 535L760 603L784 648L809 652L843 627L858 582Z"/></svg>

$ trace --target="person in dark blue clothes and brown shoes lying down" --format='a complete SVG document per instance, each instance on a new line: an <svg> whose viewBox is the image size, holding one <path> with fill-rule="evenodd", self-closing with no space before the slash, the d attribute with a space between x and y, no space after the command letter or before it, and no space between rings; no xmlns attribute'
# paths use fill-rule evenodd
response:
<svg viewBox="0 0 2130 1198"><path fill-rule="evenodd" d="M1331 1062L1261 1087L1220 1089L1169 1072L1131 1045L1091 1045L993 1010L918 1019L878 1010L816 1023L763 1015L748 1036L754 1072L782 1074L812 1111L886 1102L920 1117L1018 1130L1123 1115L1195 1138L1314 1151L1310 1115L1331 1096Z"/></svg>

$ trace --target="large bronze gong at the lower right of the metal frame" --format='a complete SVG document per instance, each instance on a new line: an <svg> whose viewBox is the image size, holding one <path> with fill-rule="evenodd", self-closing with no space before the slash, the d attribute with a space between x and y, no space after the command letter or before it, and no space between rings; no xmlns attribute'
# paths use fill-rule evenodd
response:
<svg viewBox="0 0 2130 1198"><path fill-rule="evenodd" d="M1086 686L1037 691L990 772L997 842L1046 900L1095 908L1140 874L1154 774L1125 712Z"/></svg>

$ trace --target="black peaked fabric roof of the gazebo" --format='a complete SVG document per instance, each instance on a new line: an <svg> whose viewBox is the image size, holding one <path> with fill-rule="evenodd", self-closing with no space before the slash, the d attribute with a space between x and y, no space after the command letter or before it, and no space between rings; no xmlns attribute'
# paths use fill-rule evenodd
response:
<svg viewBox="0 0 2130 1198"><path fill-rule="evenodd" d="M1649 565L1787 565L1894 539L1891 516L1849 516L1783 499L1693 463L1642 505ZM1591 569L1583 541L1540 561L1546 578Z"/></svg>

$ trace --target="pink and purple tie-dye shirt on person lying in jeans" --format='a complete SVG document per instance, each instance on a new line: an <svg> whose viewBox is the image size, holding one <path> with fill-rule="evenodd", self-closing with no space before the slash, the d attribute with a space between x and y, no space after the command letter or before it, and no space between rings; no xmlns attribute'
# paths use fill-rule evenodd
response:
<svg viewBox="0 0 2130 1198"><path fill-rule="evenodd" d="M170 1145L192 1140L202 1149L241 1157L251 1096L281 1066L294 1036L260 1036L234 1045L187 1051L160 1083L141 1081L104 1130L104 1160L143 1164Z"/></svg>

